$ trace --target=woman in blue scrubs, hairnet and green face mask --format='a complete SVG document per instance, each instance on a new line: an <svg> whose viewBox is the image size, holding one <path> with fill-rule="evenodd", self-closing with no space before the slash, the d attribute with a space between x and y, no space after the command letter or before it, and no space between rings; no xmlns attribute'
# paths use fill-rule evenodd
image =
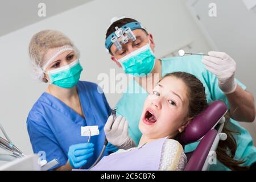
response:
<svg viewBox="0 0 256 182"><path fill-rule="evenodd" d="M89 168L100 155L104 125L112 111L104 93L93 82L79 81L79 51L61 32L38 32L29 53L35 78L49 83L27 117L34 153L44 152L47 162L57 159L54 168L58 170ZM92 135L87 143L81 126L98 126L100 134ZM109 143L104 155L115 150Z"/></svg>

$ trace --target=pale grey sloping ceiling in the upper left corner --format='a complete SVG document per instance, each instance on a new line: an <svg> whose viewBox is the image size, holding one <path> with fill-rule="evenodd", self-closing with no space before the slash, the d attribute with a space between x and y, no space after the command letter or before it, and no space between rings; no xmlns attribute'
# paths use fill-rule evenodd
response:
<svg viewBox="0 0 256 182"><path fill-rule="evenodd" d="M0 36L93 0L1 0ZM38 4L46 4L46 17L38 16Z"/></svg>

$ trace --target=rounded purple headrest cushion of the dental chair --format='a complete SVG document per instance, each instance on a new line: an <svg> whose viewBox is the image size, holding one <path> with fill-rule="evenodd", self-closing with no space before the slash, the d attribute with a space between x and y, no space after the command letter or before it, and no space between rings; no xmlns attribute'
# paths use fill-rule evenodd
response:
<svg viewBox="0 0 256 182"><path fill-rule="evenodd" d="M204 137L204 135L211 130L218 121L220 121L227 110L228 108L224 102L212 102L207 109L192 119L177 140L181 144L196 142L200 138Z"/></svg>

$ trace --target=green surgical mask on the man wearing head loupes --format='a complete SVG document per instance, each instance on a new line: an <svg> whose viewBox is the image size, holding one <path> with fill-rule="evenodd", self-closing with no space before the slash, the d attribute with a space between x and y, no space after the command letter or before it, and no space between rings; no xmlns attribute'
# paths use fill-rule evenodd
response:
<svg viewBox="0 0 256 182"><path fill-rule="evenodd" d="M118 60L123 71L133 76L143 77L152 71L155 65L155 55L147 44Z"/></svg>

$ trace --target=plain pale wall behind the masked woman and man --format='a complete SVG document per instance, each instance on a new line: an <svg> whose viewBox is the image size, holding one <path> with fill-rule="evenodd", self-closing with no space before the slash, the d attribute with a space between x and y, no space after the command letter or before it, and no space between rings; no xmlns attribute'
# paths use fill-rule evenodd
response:
<svg viewBox="0 0 256 182"><path fill-rule="evenodd" d="M99 82L99 73L109 74L110 68L117 68L105 51L104 41L110 19L122 15L140 20L154 35L157 56L166 55L191 41L193 51L209 50L183 2L177 0L95 0L0 37L0 122L25 154L32 153L26 129L27 114L47 86L30 77L27 48L32 35L44 29L64 32L81 51L84 67L81 80ZM122 70L117 69L117 72ZM114 106L121 95L106 94L106 97Z"/></svg>

